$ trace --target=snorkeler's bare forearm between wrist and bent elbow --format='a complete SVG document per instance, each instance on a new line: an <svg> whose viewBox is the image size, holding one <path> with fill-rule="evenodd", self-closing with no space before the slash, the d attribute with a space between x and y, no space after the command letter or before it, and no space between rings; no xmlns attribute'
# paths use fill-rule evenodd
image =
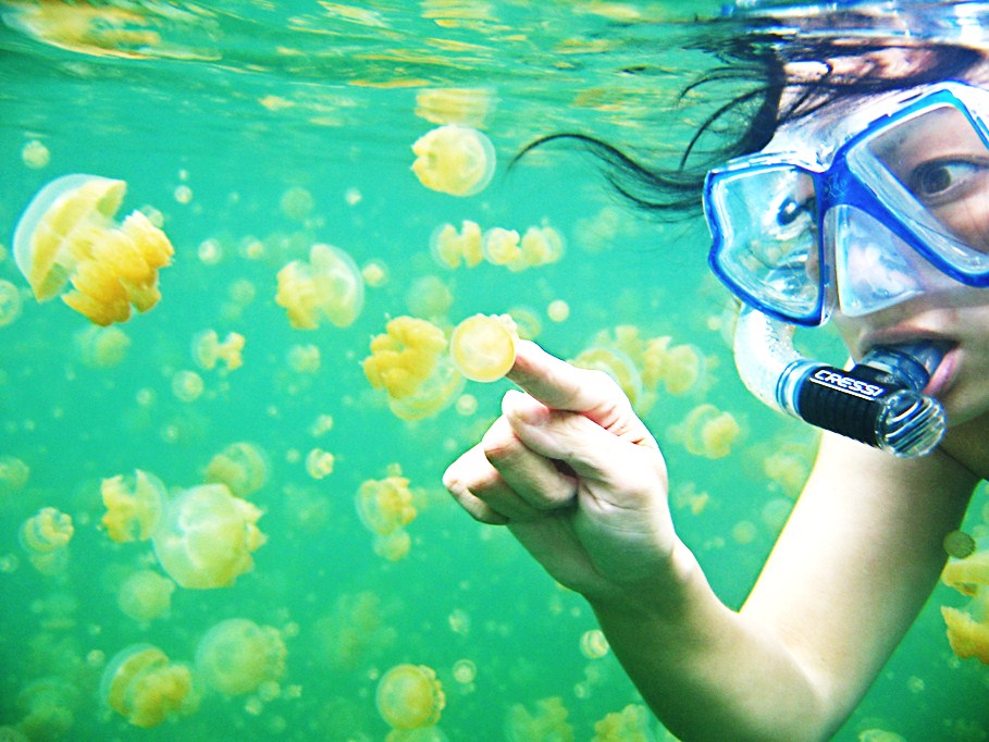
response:
<svg viewBox="0 0 989 742"><path fill-rule="evenodd" d="M680 561L667 599L591 602L656 716L685 742L827 739L843 713L808 669L769 628L722 605L685 547Z"/></svg>

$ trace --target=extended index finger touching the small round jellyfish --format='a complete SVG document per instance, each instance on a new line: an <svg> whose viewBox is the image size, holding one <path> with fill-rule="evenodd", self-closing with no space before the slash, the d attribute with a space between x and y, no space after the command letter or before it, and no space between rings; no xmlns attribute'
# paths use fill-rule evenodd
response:
<svg viewBox="0 0 989 742"><path fill-rule="evenodd" d="M616 401L617 384L597 372L579 369L546 353L532 341L519 341L507 376L549 409L593 412Z"/></svg>

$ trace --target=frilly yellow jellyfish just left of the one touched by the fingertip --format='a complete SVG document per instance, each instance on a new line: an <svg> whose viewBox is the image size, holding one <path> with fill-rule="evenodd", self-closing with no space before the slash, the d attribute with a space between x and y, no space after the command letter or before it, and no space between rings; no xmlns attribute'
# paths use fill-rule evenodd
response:
<svg viewBox="0 0 989 742"><path fill-rule="evenodd" d="M363 360L364 375L376 389L388 394L388 406L404 420L434 415L463 386L463 378L449 362L446 336L436 325L415 317L396 317L385 333L371 338L371 355Z"/></svg>

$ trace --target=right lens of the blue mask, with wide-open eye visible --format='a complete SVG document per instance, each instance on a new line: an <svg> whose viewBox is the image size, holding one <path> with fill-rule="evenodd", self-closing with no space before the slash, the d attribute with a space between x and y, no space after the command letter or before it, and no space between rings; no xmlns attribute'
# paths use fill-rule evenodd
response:
<svg viewBox="0 0 989 742"><path fill-rule="evenodd" d="M849 159L939 268L989 272L989 147L964 111L925 109Z"/></svg>

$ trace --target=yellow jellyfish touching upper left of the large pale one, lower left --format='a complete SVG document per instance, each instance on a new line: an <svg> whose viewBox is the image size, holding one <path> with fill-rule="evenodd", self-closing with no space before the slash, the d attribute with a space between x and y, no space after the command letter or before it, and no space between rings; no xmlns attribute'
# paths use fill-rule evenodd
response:
<svg viewBox="0 0 989 742"><path fill-rule="evenodd" d="M118 543L150 539L169 499L164 483L140 469L104 479L100 494L107 508L100 522Z"/></svg>

